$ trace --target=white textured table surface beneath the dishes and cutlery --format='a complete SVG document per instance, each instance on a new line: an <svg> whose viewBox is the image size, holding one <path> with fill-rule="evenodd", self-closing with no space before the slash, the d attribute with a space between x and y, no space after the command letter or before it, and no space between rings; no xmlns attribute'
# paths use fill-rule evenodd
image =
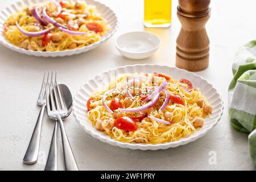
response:
<svg viewBox="0 0 256 182"><path fill-rule="evenodd" d="M15 0L0 1L5 7ZM158 52L149 59L125 59L114 47L117 35L141 31L143 1L105 0L119 18L119 29L112 39L93 51L63 58L42 58L21 55L0 46L0 170L42 170L51 141L54 123L44 117L40 155L37 164L22 163L34 129L39 107L36 99L43 72L59 70L59 82L67 84L73 95L89 78L108 69L138 63L175 66L175 41L180 30L176 17L177 1L173 1L170 28L146 28L162 39ZM231 65L236 49L256 38L256 1L212 1L212 15L207 24L210 38L210 65L197 74L208 79L225 102L221 121L203 138L185 146L159 151L129 150L110 146L90 137L76 123L73 115L65 120L69 141L80 169L83 170L176 170L176 169L255 169L247 146L247 134L230 126L227 90L232 79ZM64 169L59 136L59 169ZM213 156L212 156L213 154ZM211 156L216 154L216 164Z"/></svg>

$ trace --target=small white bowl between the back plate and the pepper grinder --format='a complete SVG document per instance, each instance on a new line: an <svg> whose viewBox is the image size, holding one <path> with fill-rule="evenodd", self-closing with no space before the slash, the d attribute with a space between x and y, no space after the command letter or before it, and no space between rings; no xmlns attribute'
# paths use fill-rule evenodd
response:
<svg viewBox="0 0 256 182"><path fill-rule="evenodd" d="M161 40L150 32L127 32L115 39L115 47L130 59L145 59L159 48Z"/></svg>

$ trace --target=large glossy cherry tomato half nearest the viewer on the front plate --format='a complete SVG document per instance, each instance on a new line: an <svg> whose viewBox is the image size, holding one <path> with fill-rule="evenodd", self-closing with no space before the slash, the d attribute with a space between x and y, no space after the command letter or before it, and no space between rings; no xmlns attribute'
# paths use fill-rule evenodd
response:
<svg viewBox="0 0 256 182"><path fill-rule="evenodd" d="M115 119L114 126L121 130L135 131L137 130L137 125L133 119L129 117L121 117Z"/></svg>

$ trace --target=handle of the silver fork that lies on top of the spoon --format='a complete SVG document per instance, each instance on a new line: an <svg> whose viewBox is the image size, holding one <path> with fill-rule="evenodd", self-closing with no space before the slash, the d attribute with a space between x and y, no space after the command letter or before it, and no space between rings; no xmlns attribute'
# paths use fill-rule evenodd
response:
<svg viewBox="0 0 256 182"><path fill-rule="evenodd" d="M71 146L68 141L68 137L64 128L63 121L59 115L57 116L57 119L60 122L60 131L61 131L61 139L63 144L65 168L67 171L79 171L79 168L77 167L77 164L76 164L76 159L73 155Z"/></svg>

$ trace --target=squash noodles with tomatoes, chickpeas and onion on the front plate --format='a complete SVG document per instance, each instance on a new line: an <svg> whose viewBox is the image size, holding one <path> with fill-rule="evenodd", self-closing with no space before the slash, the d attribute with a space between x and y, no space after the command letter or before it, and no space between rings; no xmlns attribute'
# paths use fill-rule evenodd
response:
<svg viewBox="0 0 256 182"><path fill-rule="evenodd" d="M87 115L92 126L119 142L173 142L203 127L204 118L212 112L200 89L192 87L188 80L177 81L159 73L126 73L94 90L87 102ZM129 110L132 108L135 111Z"/></svg>

